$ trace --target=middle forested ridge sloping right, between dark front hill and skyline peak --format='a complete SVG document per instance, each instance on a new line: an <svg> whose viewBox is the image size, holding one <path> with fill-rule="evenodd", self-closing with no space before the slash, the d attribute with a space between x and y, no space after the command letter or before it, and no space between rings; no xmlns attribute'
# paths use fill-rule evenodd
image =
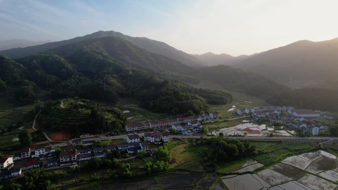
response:
<svg viewBox="0 0 338 190"><path fill-rule="evenodd" d="M268 80L253 73L247 73L229 66L192 68L168 57L151 53L127 40L116 37L104 37L84 40L63 45L48 52L66 57L73 63L79 63L88 52L120 60L140 70L148 71L166 78L184 83L198 84L199 79L218 83L224 89L240 91L260 97L269 97L273 93L287 89L286 86Z"/></svg>

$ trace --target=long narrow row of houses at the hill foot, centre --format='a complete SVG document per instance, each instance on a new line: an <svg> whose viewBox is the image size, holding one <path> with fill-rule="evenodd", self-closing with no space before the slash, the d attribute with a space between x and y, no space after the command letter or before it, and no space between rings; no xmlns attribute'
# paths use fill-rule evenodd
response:
<svg viewBox="0 0 338 190"><path fill-rule="evenodd" d="M149 130L149 129L159 129L165 127L172 127L182 125L188 122L198 122L204 121L208 119L217 119L219 118L218 113L207 113L201 114L197 116L187 116L187 117L177 117L176 119L168 119L168 120L159 120L155 122L138 122L138 123L130 123L126 125L126 131L140 131L140 130Z"/></svg>

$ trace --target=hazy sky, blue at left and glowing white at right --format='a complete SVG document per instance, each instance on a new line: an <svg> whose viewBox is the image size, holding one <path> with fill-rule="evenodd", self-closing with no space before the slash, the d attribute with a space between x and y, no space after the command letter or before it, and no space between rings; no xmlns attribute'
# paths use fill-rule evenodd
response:
<svg viewBox="0 0 338 190"><path fill-rule="evenodd" d="M62 40L99 30L187 53L252 54L338 37L338 0L0 0L0 40Z"/></svg>

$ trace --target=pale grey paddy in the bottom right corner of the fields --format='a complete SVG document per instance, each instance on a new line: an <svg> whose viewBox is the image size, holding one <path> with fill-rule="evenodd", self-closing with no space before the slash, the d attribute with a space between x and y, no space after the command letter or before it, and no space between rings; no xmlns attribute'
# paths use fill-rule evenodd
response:
<svg viewBox="0 0 338 190"><path fill-rule="evenodd" d="M314 190L335 190L337 187L336 184L311 174L300 178L298 182Z"/></svg>

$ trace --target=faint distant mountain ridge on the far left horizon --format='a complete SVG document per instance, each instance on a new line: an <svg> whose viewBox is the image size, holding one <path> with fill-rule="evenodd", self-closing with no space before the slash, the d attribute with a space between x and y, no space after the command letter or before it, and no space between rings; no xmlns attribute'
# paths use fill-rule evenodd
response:
<svg viewBox="0 0 338 190"><path fill-rule="evenodd" d="M0 41L0 50L40 45L51 41L31 41L28 39L8 39Z"/></svg>

